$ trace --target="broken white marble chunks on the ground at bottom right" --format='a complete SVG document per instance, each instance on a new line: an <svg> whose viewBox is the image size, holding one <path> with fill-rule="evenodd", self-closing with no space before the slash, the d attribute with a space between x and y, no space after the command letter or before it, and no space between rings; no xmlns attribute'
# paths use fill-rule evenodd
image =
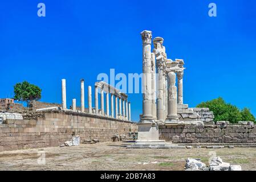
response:
<svg viewBox="0 0 256 182"><path fill-rule="evenodd" d="M185 171L242 171L239 165L230 165L225 163L218 156L215 156L210 161L209 167L202 163L200 159L188 158L186 160Z"/></svg>

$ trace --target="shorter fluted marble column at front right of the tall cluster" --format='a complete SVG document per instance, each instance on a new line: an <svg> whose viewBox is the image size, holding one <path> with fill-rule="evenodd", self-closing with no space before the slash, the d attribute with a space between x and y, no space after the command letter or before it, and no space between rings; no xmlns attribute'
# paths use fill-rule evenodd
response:
<svg viewBox="0 0 256 182"><path fill-rule="evenodd" d="M168 115L165 123L178 122L176 74L168 73Z"/></svg>

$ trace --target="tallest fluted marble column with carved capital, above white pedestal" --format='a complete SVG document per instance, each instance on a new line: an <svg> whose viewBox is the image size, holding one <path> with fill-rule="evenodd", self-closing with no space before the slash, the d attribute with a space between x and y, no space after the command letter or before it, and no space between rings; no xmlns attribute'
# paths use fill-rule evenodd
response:
<svg viewBox="0 0 256 182"><path fill-rule="evenodd" d="M151 40L152 32L141 32L143 40L143 115L141 122L152 122L152 64Z"/></svg>

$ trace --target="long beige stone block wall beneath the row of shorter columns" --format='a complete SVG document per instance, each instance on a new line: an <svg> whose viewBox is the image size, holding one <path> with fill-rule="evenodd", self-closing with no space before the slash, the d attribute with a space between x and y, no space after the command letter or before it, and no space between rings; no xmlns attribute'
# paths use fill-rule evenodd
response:
<svg viewBox="0 0 256 182"><path fill-rule="evenodd" d="M101 117L72 111L47 111L36 113L35 119L7 119L0 125L0 151L60 146L79 135L81 140L99 139L111 141L116 132L128 136L129 131L137 131L134 122Z"/></svg>

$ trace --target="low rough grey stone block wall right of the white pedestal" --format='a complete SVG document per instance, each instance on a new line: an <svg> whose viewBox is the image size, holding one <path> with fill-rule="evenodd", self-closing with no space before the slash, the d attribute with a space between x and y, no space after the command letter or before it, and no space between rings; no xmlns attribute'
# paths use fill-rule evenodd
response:
<svg viewBox="0 0 256 182"><path fill-rule="evenodd" d="M160 126L159 133L173 143L256 143L253 125Z"/></svg>

